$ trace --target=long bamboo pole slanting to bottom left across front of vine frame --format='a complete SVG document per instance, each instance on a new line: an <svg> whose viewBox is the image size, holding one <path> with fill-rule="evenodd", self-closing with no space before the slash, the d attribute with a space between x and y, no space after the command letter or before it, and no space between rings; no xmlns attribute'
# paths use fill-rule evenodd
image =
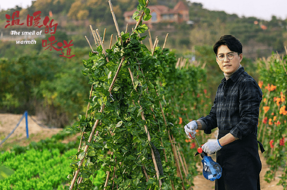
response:
<svg viewBox="0 0 287 190"><path fill-rule="evenodd" d="M122 57L121 63L120 63L119 66L118 66L118 69L117 69L117 71L116 71L116 74L115 74L115 76L114 76L114 78L113 78L112 83L110 84L109 93L112 91L113 85L114 85L115 82L116 82L116 78L117 78L117 76L119 75L119 71L120 71L120 69L122 68L122 63L124 62L124 60L125 60L125 57ZM99 112L102 113L104 107L105 107L105 104L103 104L103 105L101 106L101 109L100 109ZM95 124L94 124L94 126L93 126L93 129L92 129L92 131L91 131L90 137L89 137L89 139L88 139L88 142L89 142L89 143L91 143L91 140L92 140L92 138L93 138L93 136L94 136L94 133L95 133L95 130L96 130L96 127L97 127L98 124L99 124L99 119L96 120L96 122L95 122ZM85 155L86 155L86 153L87 153L87 151L88 151L88 148L89 148L89 146L86 145L86 146L85 146L85 150L84 150ZM80 172L80 168L81 168L81 166L82 166L82 164L83 164L83 162L84 162L85 155L84 155L84 158L80 161L79 169L76 171L76 173L75 173L75 175L74 175L74 177L73 177L73 180L72 180L71 185L70 185L70 187L69 187L70 190L72 190L73 187L74 187L74 185L75 185L76 179L77 179L78 174L79 174L79 172Z"/></svg>

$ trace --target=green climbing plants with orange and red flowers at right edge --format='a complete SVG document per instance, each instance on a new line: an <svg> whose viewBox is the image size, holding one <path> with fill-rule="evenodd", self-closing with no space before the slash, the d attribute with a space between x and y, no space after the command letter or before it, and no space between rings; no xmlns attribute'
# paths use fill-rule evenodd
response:
<svg viewBox="0 0 287 190"><path fill-rule="evenodd" d="M270 182L276 177L279 168L283 168L281 180L277 185L287 189L287 159L285 139L287 134L287 56L282 59L273 54L268 59L258 60L260 81L263 92L261 102L258 139L264 145L266 162L270 167L265 174L265 180Z"/></svg>

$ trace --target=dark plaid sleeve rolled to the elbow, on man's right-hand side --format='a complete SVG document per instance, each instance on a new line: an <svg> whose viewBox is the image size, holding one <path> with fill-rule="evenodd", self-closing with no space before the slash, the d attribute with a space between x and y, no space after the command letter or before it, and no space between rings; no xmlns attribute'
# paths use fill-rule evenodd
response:
<svg viewBox="0 0 287 190"><path fill-rule="evenodd" d="M254 79L246 79L242 81L239 93L241 121L230 130L230 133L236 138L242 139L257 130L262 91Z"/></svg>

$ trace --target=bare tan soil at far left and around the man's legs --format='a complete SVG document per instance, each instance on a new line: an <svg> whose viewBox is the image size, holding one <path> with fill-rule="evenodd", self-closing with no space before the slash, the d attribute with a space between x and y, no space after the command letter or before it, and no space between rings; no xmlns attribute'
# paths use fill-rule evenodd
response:
<svg viewBox="0 0 287 190"><path fill-rule="evenodd" d="M22 115L17 114L0 114L0 141L8 136L8 134L16 127L18 122L20 121ZM14 145L27 146L30 142L38 142L41 139L46 139L54 134L57 134L61 128L48 128L41 127L41 121L35 116L31 116L36 122L34 122L30 116L28 116L28 130L29 130L29 138L26 138L26 124L25 118L20 122L17 129L14 133L0 146L0 150L8 150L12 148ZM263 153L264 154L264 153ZM261 190L283 190L282 186L277 186L276 184L279 182L279 177L281 176L280 171L277 172L277 177L274 181L267 183L264 180L264 174L268 170L268 166L261 152L259 152L261 162L262 162L262 170L260 173L260 182L261 182ZM214 157L212 157L215 160ZM202 173L202 165L198 163L198 171L199 175L194 178L194 187L193 190L212 190L214 189L214 183L203 177Z"/></svg>

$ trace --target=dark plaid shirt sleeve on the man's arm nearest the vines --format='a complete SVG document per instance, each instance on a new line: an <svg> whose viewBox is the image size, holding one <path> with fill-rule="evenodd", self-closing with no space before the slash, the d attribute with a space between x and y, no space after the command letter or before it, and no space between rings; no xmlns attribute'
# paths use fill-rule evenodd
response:
<svg viewBox="0 0 287 190"><path fill-rule="evenodd" d="M211 107L211 110L209 114L205 117L199 118L199 120L203 121L205 123L205 134L211 134L211 130L217 127L217 117L216 117L216 97L213 102L213 106Z"/></svg>

